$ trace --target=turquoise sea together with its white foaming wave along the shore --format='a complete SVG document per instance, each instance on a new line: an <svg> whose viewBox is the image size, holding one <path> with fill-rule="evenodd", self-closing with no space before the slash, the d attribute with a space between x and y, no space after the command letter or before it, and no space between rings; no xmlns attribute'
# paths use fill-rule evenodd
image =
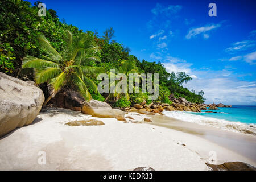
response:
<svg viewBox="0 0 256 182"><path fill-rule="evenodd" d="M205 111L218 113L205 113ZM256 106L233 106L219 108L219 110L202 110L201 113L185 111L164 111L163 113L185 122L256 135Z"/></svg>

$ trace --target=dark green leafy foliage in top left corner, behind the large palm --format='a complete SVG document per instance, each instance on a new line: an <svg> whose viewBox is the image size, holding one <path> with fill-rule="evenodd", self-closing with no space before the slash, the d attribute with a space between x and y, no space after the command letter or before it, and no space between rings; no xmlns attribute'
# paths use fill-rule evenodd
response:
<svg viewBox="0 0 256 182"><path fill-rule="evenodd" d="M63 41L64 30L68 29L74 34L81 34L77 27L61 23L54 10L47 10L46 16L38 16L38 7L30 2L20 0L0 1L0 49L12 49L14 59L8 64L1 62L1 71L5 70L11 76L16 76L22 65L25 55L42 57L42 51L38 43L38 36L45 35L51 45L60 52L65 42ZM9 46L6 46L9 44ZM8 52L8 51L7 51ZM3 51L3 55L7 55ZM10 53L9 53L10 55ZM8 61L7 61L8 62ZM6 61L5 61L6 63Z"/></svg>

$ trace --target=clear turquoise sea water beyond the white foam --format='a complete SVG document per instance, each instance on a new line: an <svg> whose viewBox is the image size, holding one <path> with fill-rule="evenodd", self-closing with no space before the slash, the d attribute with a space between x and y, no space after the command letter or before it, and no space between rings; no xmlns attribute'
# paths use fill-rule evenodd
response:
<svg viewBox="0 0 256 182"><path fill-rule="evenodd" d="M201 113L192 113L212 117L217 119L225 119L228 121L236 121L242 123L256 123L256 106L232 106L232 108L219 108L220 110L201 110ZM205 113L205 111L213 111L218 113Z"/></svg>

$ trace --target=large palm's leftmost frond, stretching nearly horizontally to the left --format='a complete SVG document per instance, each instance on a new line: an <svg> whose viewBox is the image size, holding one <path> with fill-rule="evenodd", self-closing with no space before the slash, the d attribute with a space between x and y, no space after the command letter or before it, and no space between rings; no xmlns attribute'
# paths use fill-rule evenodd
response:
<svg viewBox="0 0 256 182"><path fill-rule="evenodd" d="M22 61L22 68L43 68L43 67L59 67L58 63L39 59L34 56L25 56Z"/></svg>

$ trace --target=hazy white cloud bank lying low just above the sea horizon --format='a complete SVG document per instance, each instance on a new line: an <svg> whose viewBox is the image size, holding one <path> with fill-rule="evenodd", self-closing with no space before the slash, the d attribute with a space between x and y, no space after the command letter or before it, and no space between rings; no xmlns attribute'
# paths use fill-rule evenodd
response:
<svg viewBox="0 0 256 182"><path fill-rule="evenodd" d="M240 81L236 78L209 78L193 79L184 84L188 89L196 92L204 91L205 103L212 102L232 105L255 105L256 86L255 82Z"/></svg>

